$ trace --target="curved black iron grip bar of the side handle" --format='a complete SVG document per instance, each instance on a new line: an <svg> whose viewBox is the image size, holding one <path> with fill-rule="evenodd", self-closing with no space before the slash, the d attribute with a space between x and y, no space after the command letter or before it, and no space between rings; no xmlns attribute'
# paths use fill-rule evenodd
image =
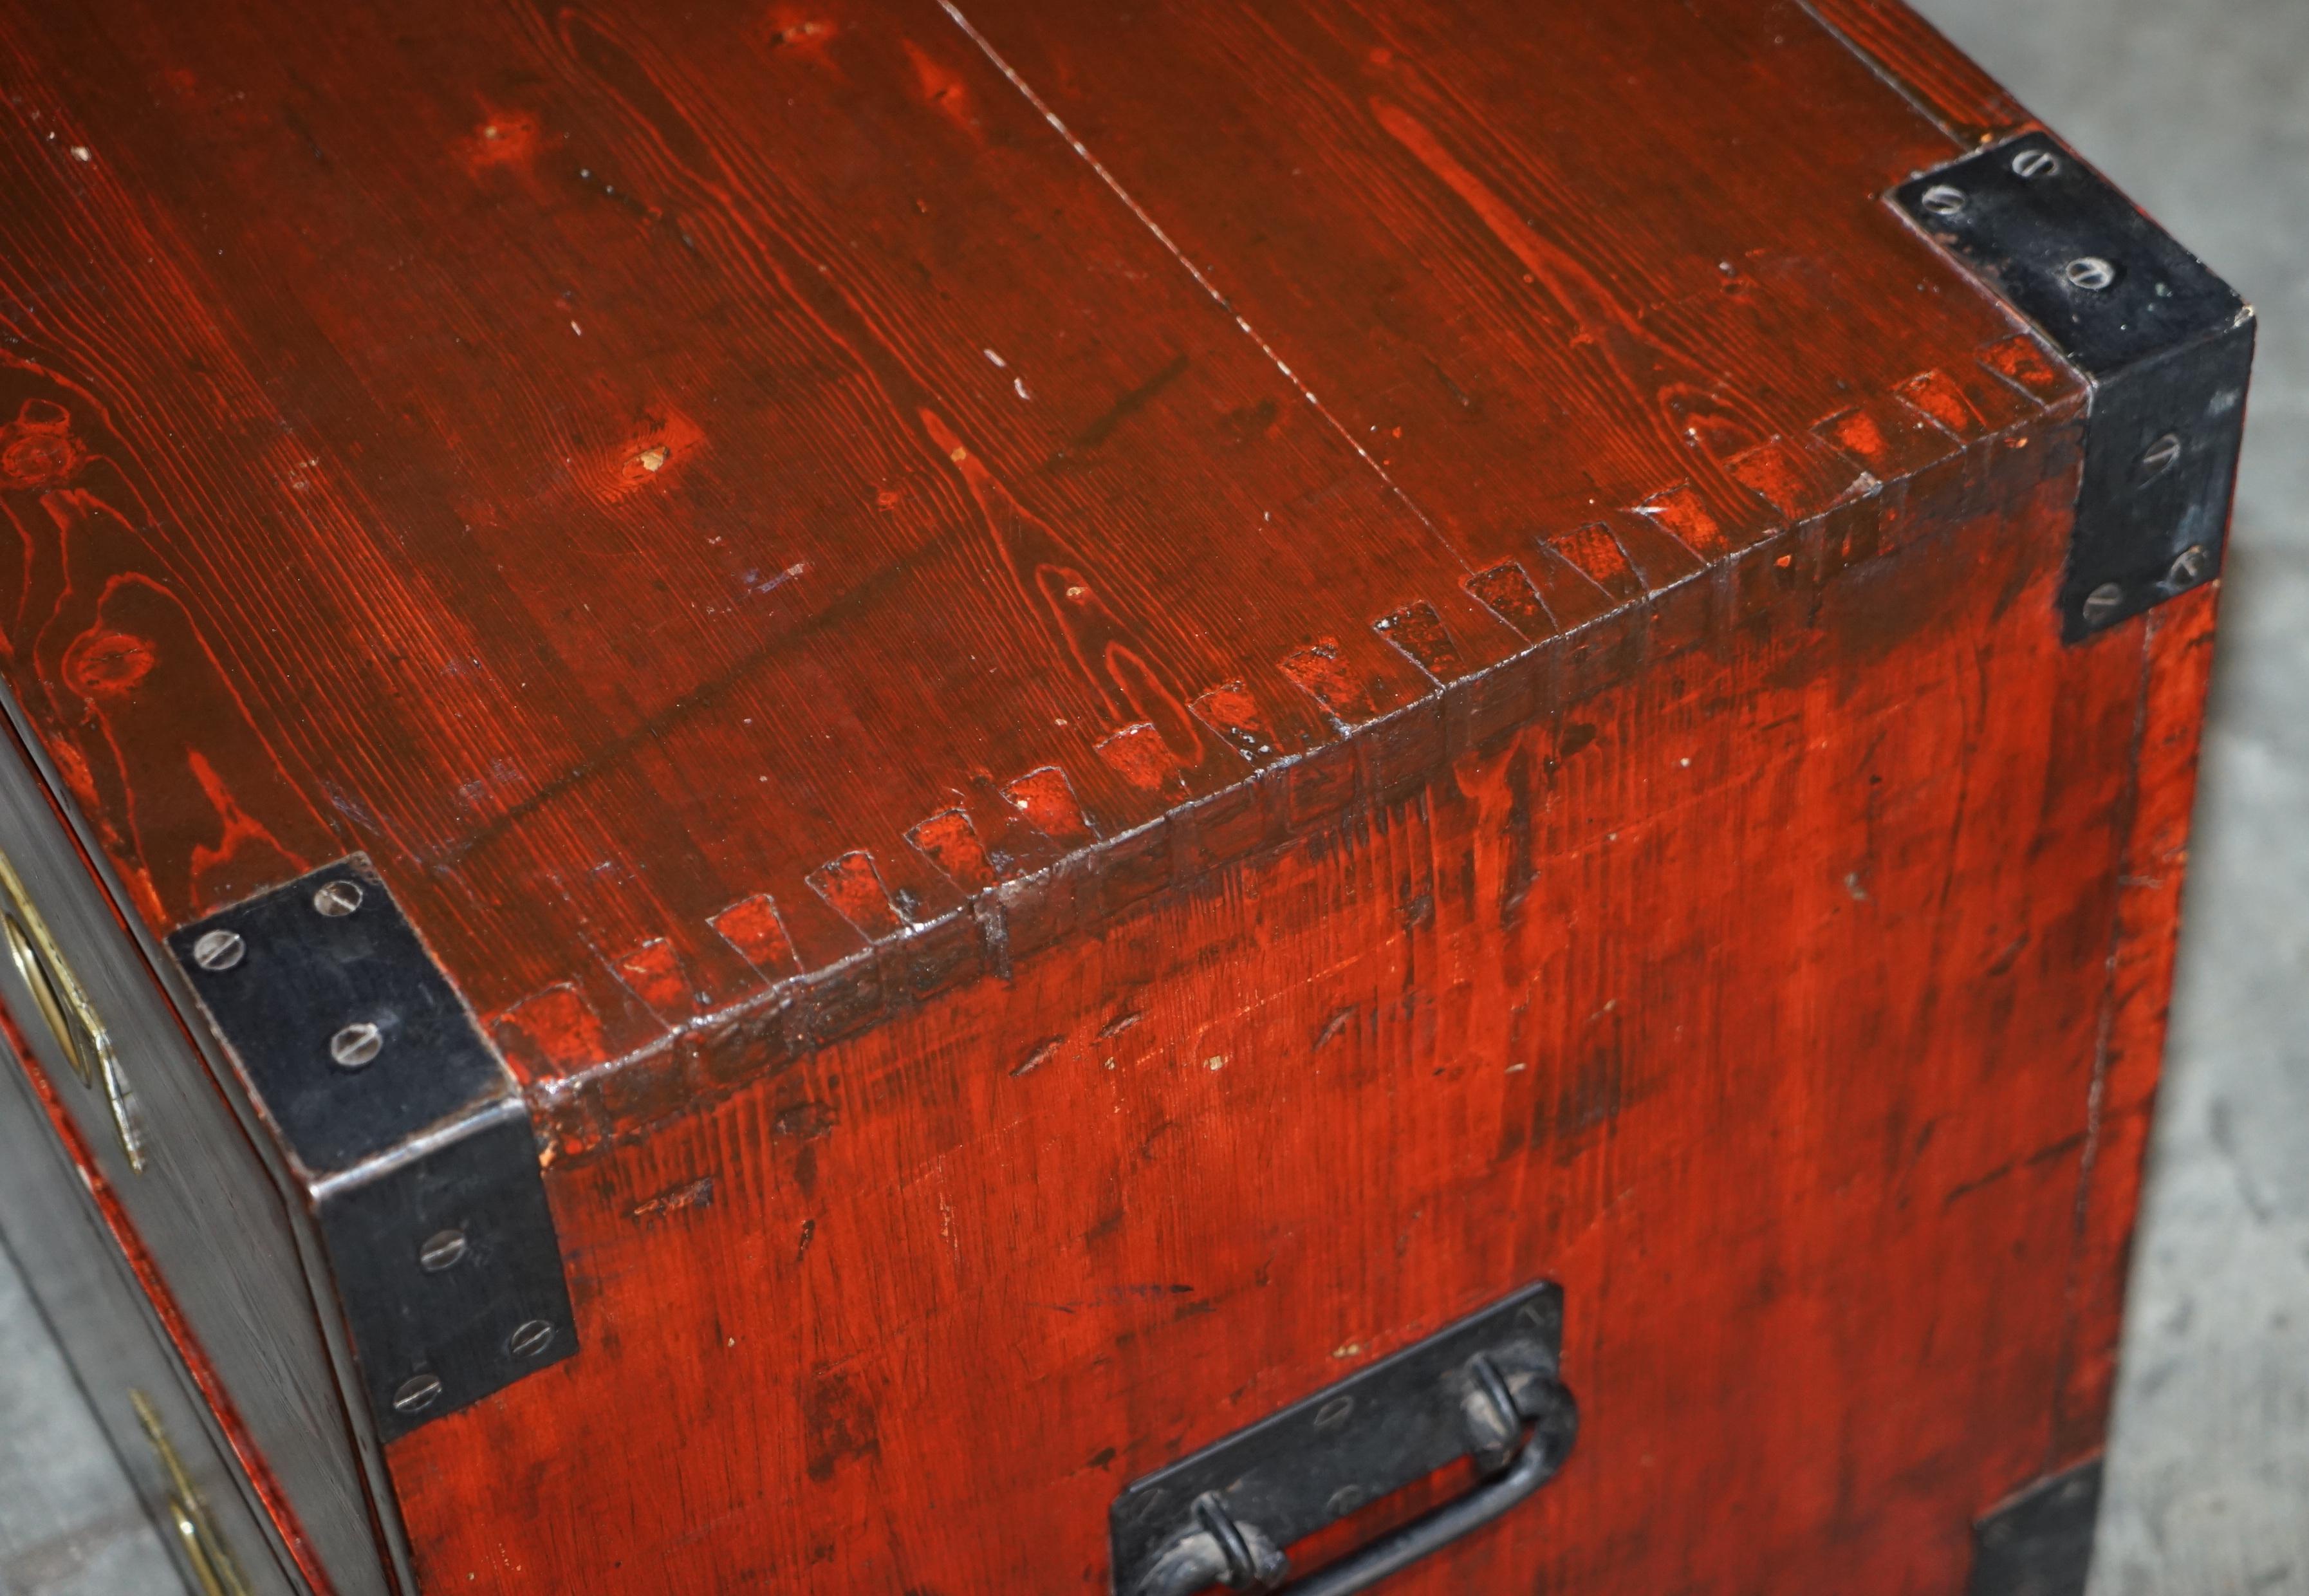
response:
<svg viewBox="0 0 2309 1596"><path fill-rule="evenodd" d="M1138 1596L1191 1596L1191 1591L1226 1584L1233 1589L1268 1589L1275 1596L1353 1596L1367 1591L1392 1573L1402 1573L1429 1552L1439 1552L1459 1536L1482 1529L1494 1517L1512 1508L1524 1497L1556 1476L1570 1457L1579 1437L1579 1404L1559 1381L1547 1381L1531 1393L1535 1407L1531 1439L1515 1455L1503 1474L1492 1476L1464 1497L1445 1501L1441 1508L1390 1529L1378 1541L1360 1547L1325 1568L1316 1568L1305 1580L1272 1587L1265 1580L1279 1578L1286 1561L1279 1550L1251 1524L1233 1524L1249 1543L1254 1568L1242 1568L1231 1547L1221 1547L1210 1529L1187 1536L1148 1571L1138 1582ZM1245 1578L1249 1575L1249 1578Z"/></svg>

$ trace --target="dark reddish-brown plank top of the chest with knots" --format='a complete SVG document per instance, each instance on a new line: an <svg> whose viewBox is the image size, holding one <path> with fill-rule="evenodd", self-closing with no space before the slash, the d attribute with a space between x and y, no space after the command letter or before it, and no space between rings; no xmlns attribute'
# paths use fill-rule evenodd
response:
<svg viewBox="0 0 2309 1596"><path fill-rule="evenodd" d="M155 931L365 850L529 1069L1519 654L1582 529L1609 591L1815 513L1822 418L2016 330L1882 203L1958 134L1771 0L99 0L0 62L25 728Z"/></svg>

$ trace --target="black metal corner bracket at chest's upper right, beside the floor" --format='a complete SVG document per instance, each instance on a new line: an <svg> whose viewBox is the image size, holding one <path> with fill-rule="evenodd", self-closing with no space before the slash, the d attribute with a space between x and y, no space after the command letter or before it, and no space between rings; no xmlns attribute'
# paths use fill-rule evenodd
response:
<svg viewBox="0 0 2309 1596"><path fill-rule="evenodd" d="M2078 642L2217 577L2251 307L2043 132L1903 182L1891 203L2090 383L2062 637Z"/></svg>

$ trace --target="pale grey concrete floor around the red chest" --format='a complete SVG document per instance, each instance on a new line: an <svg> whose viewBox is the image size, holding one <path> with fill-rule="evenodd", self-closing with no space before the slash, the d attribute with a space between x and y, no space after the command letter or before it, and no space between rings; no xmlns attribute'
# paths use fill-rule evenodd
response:
<svg viewBox="0 0 2309 1596"><path fill-rule="evenodd" d="M2263 316L2092 1596L2309 1596L2309 0L1914 2ZM5 1254L0 1349L0 1596L171 1589Z"/></svg>

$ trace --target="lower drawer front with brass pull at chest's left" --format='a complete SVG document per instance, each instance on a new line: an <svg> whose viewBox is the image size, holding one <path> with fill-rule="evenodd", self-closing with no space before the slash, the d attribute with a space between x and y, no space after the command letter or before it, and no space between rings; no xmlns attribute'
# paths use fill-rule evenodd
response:
<svg viewBox="0 0 2309 1596"><path fill-rule="evenodd" d="M196 1596L309 1591L12 1044L0 1233Z"/></svg>

